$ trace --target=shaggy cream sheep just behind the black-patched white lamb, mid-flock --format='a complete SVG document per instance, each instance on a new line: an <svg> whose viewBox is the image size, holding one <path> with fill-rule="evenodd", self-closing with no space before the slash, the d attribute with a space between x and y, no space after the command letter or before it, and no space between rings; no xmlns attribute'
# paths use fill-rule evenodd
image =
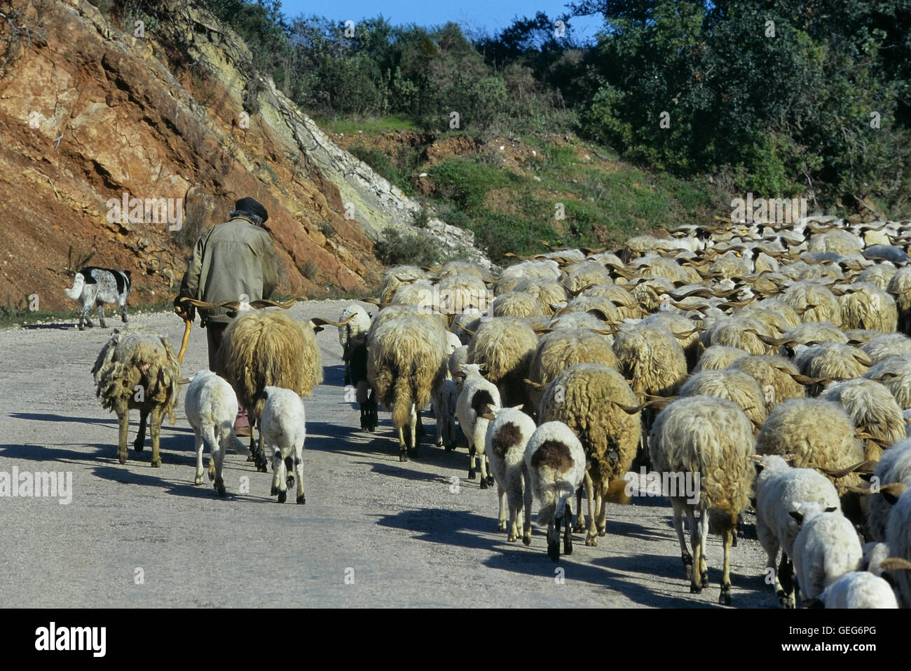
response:
<svg viewBox="0 0 911 671"><path fill-rule="evenodd" d="M527 402L528 366L535 356L537 335L517 317L494 317L477 329L468 344L468 363L485 370L496 385L503 406L512 408Z"/></svg>

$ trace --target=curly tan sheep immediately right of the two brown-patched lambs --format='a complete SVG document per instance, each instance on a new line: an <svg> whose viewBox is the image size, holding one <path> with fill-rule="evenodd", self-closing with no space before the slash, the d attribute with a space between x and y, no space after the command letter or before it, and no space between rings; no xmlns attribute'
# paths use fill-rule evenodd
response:
<svg viewBox="0 0 911 671"><path fill-rule="evenodd" d="M607 502L616 487L625 488L641 436L638 398L616 370L604 364L578 364L564 370L545 389L538 422L561 421L578 436L588 463L586 493L589 528L586 545L607 533ZM589 484L589 480L590 483ZM578 511L577 529L585 518Z"/></svg>

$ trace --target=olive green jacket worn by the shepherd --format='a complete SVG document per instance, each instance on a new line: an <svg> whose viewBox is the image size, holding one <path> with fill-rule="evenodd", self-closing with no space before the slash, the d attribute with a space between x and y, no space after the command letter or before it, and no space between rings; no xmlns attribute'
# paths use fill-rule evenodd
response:
<svg viewBox="0 0 911 671"><path fill-rule="evenodd" d="M239 215L212 226L197 241L179 296L206 303L257 301L269 298L278 280L278 257L269 232ZM202 325L228 324L227 313L225 308L200 309Z"/></svg>

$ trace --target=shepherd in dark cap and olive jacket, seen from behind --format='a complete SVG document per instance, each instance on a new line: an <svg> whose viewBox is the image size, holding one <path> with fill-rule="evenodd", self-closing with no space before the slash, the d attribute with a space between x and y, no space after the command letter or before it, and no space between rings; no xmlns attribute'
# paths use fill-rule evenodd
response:
<svg viewBox="0 0 911 671"><path fill-rule="evenodd" d="M278 257L269 232L262 224L269 213L252 198L234 203L230 221L220 223L203 234L193 249L193 258L180 283L174 305L179 316L193 321L196 308L179 303L188 296L205 303L257 301L269 298L278 284ZM215 353L231 317L225 308L202 310L200 324L207 329L209 368L215 370ZM238 412L235 429L239 436L250 435L247 411Z"/></svg>

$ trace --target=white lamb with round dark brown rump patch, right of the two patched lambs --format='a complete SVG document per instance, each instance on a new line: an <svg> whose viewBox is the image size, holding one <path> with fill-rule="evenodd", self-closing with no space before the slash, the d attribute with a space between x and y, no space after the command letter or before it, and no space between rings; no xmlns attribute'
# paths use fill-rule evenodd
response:
<svg viewBox="0 0 911 671"><path fill-rule="evenodd" d="M548 525L548 555L572 554L572 496L585 478L585 450L563 422L545 422L535 429L525 449L528 489L538 501L537 523Z"/></svg>

